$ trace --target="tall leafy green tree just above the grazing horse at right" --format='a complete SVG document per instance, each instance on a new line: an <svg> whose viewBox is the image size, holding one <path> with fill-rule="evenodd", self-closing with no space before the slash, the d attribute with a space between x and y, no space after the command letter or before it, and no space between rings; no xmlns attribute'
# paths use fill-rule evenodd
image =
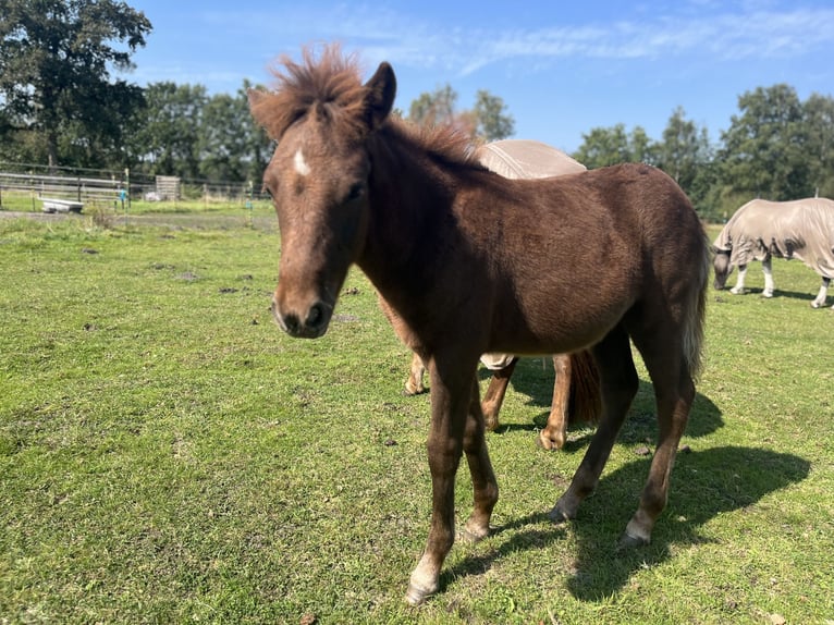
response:
<svg viewBox="0 0 834 625"><path fill-rule="evenodd" d="M812 193L796 90L785 84L759 87L741 95L738 108L722 133L725 195L788 200Z"/></svg>

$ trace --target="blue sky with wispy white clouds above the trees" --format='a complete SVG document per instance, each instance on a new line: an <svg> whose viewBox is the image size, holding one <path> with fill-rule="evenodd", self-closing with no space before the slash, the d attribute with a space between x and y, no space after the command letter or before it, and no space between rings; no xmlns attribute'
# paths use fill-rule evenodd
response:
<svg viewBox="0 0 834 625"><path fill-rule="evenodd" d="M660 139L678 106L718 142L738 96L776 83L834 94L832 0L363 2L128 0L154 25L128 79L235 93L279 54L340 41L367 76L389 61L398 108L446 83L503 98L516 137L574 151L596 126Z"/></svg>

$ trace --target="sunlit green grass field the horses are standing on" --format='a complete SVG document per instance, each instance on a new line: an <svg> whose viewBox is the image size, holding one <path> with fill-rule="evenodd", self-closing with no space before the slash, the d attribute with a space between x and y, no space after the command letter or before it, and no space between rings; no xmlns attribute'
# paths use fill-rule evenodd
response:
<svg viewBox="0 0 834 625"><path fill-rule="evenodd" d="M834 312L798 261L774 261L773 299L758 267L751 294L710 292L649 547L614 549L654 440L645 372L596 494L554 526L592 430L535 445L553 373L525 359L488 434L494 535L410 609L429 397L402 396L372 287L353 272L328 334L292 340L274 228L195 223L0 219L1 624L834 623Z"/></svg>

